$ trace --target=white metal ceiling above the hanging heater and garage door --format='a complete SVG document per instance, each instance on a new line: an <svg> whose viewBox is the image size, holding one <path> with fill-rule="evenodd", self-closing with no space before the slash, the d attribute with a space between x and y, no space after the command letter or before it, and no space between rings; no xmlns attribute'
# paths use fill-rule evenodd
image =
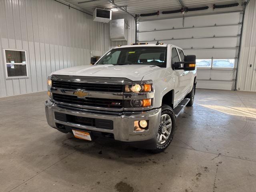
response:
<svg viewBox="0 0 256 192"><path fill-rule="evenodd" d="M132 14L140 14L145 12L152 12L156 10L172 10L181 8L182 4L188 7L195 6L209 6L212 8L213 4L229 4L238 2L241 3L243 0L112 0L118 6L127 6L127 11ZM98 8L115 8L109 0L66 0L66 2L73 4L87 12L93 12ZM112 12L112 14L124 13L123 10Z"/></svg>

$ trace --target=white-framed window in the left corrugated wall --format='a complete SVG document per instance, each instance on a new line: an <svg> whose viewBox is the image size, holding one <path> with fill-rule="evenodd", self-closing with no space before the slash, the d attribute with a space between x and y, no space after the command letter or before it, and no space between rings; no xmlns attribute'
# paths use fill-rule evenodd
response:
<svg viewBox="0 0 256 192"><path fill-rule="evenodd" d="M6 78L28 77L26 51L4 49Z"/></svg>

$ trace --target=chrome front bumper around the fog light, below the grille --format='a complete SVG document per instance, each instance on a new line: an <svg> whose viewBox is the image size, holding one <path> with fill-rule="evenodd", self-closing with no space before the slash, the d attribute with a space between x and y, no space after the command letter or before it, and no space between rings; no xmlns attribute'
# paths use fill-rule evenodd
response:
<svg viewBox="0 0 256 192"><path fill-rule="evenodd" d="M146 112L124 112L120 115L102 114L100 111L88 112L88 110L71 108L66 106L57 105L50 100L45 102L45 111L48 124L57 128L57 124L62 124L65 126L70 126L73 128L78 128L82 130L96 131L96 132L106 132L112 133L114 139L122 142L140 142L151 140L156 142L156 135L158 133L158 127L160 124L161 109L153 109ZM60 112L64 114L88 117L88 118L98 118L113 121L113 129L101 129L93 126L84 126L80 124L74 124L70 122L61 122L55 119L54 112ZM135 132L134 131L134 121L138 120L148 120L149 126L148 130Z"/></svg>

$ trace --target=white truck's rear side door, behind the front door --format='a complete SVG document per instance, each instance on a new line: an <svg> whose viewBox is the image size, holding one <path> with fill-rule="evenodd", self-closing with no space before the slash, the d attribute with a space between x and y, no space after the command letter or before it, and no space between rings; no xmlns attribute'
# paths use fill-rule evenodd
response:
<svg viewBox="0 0 256 192"><path fill-rule="evenodd" d="M184 61L184 57L185 57L184 52L179 48L177 48L177 50L180 55L180 60ZM190 92L190 89L192 88L192 84L193 84L194 80L192 80L192 78L193 78L192 71L183 71L182 76L183 76L183 83L185 86L184 93L182 94L182 97L185 97Z"/></svg>

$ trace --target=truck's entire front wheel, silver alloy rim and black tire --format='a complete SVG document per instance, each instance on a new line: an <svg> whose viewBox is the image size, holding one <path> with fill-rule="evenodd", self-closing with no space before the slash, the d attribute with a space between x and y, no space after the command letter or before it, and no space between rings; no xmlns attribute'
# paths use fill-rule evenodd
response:
<svg viewBox="0 0 256 192"><path fill-rule="evenodd" d="M170 145L174 136L175 114L172 108L166 104L163 104L161 108L161 120L156 138L156 149L152 150L154 153L164 151Z"/></svg>

